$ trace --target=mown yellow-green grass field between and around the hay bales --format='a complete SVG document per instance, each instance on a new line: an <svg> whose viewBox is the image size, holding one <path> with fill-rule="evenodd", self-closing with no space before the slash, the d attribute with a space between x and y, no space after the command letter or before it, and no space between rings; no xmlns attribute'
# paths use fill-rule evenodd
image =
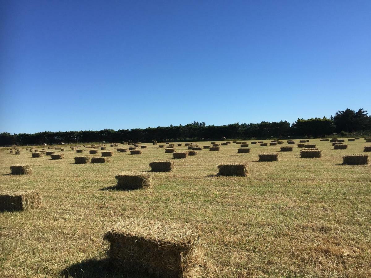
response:
<svg viewBox="0 0 371 278"><path fill-rule="evenodd" d="M51 160L1 150L1 191L39 191L42 207L0 213L0 277L149 277L117 271L105 258L103 234L122 218L200 229L210 277L371 277L371 165L341 165L343 155L371 144L361 138L334 150L319 139L310 143L322 158L299 158L301 148L290 145L293 152L280 153L278 162L257 162L280 145L237 153L239 145L230 144L173 159L143 144L142 155L108 145L115 150L109 163L75 165L75 156L100 155L67 146L64 159ZM152 173L153 188L111 189L115 174L149 171L150 162L167 159L175 168ZM247 162L247 177L216 176L217 165L229 162ZM33 175L9 175L18 163L31 164Z"/></svg>

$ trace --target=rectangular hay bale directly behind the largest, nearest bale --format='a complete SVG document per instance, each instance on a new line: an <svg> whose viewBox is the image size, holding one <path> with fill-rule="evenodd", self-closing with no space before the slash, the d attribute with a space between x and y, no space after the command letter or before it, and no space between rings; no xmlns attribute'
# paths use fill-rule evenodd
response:
<svg viewBox="0 0 371 278"><path fill-rule="evenodd" d="M152 187L152 176L149 173L122 172L117 174L115 178L117 179L117 189L131 190Z"/></svg>

